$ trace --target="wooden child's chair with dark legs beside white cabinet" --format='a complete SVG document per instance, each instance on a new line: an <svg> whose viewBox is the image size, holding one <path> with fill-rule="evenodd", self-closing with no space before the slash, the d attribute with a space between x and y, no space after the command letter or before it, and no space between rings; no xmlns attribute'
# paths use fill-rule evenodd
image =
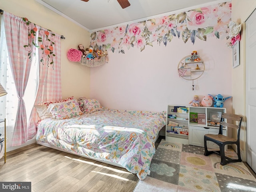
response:
<svg viewBox="0 0 256 192"><path fill-rule="evenodd" d="M224 119L227 121L225 122ZM229 121L232 121L232 123L228 123ZM238 125L236 125L236 122L238 122ZM233 124L234 123L234 124ZM241 156L240 156L240 127L242 123L242 116L236 115L236 114L227 114L223 113L220 119L220 130L218 135L214 134L206 134L204 135L204 155L208 156L210 154L218 154L220 155L221 165L226 165L227 163L231 162L241 162ZM222 135L222 127L226 126L228 128L235 128L237 129L237 139L229 138L227 136ZM214 150L214 151L208 151L206 141L212 141L216 143L218 146L220 146L220 150ZM231 159L229 157L225 156L225 145L227 144L236 144L237 145L237 155L238 159Z"/></svg>

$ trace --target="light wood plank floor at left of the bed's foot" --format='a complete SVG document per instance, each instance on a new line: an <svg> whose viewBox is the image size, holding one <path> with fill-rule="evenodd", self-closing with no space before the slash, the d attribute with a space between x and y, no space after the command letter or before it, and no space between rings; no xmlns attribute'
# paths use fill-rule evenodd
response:
<svg viewBox="0 0 256 192"><path fill-rule="evenodd" d="M31 182L32 192L132 192L139 179L111 166L38 144L0 159L0 181Z"/></svg>

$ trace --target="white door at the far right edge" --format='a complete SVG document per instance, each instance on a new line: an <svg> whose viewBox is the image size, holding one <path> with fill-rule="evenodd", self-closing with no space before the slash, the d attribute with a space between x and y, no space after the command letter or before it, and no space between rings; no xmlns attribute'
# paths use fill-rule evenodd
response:
<svg viewBox="0 0 256 192"><path fill-rule="evenodd" d="M246 20L246 117L247 163L256 172L256 10Z"/></svg>

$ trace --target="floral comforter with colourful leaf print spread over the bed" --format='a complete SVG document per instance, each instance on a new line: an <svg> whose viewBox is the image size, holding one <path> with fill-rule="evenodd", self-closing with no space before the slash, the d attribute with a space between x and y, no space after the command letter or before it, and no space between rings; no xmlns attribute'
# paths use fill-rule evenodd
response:
<svg viewBox="0 0 256 192"><path fill-rule="evenodd" d="M38 123L36 140L73 154L115 162L146 178L164 113L103 109L74 118Z"/></svg>

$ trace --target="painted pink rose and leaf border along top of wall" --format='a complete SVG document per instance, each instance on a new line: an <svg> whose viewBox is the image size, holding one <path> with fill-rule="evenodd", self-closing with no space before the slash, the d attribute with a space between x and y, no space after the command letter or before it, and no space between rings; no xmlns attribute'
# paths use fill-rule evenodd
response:
<svg viewBox="0 0 256 192"><path fill-rule="evenodd" d="M194 44L196 39L206 41L207 36L226 38L230 20L231 2L224 2L93 32L91 46L124 53L124 48L136 47L142 51L147 45L153 46L155 41L166 46L174 37L182 38L184 43L190 40Z"/></svg>

